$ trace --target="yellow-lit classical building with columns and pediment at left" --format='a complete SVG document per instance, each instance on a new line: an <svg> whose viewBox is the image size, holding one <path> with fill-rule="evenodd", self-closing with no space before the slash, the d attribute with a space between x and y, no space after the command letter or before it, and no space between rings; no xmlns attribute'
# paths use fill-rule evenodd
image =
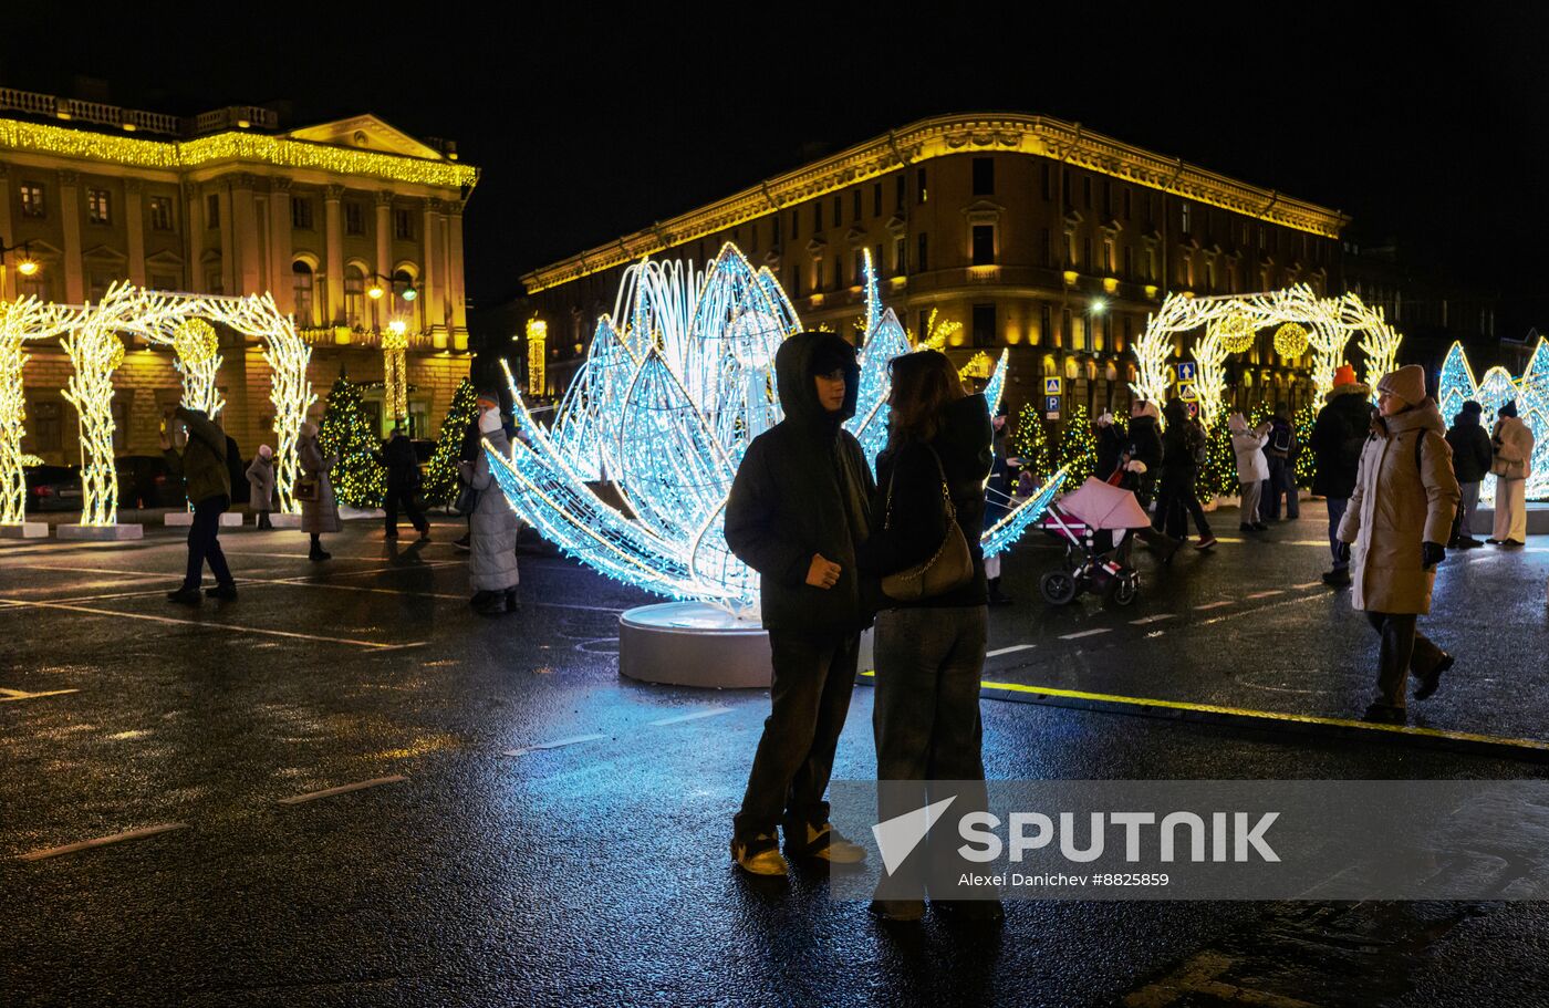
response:
<svg viewBox="0 0 1549 1008"><path fill-rule="evenodd" d="M108 285L200 294L271 293L313 347L324 395L345 372L381 382L381 333L409 334L409 417L434 437L468 373L463 209L479 170L448 141L362 115L282 129L262 107L192 118L0 88L0 297L82 303ZM29 276L19 268L36 263ZM260 348L222 331L225 423L245 455L271 434ZM25 451L76 461L70 364L28 344ZM248 376L252 375L252 381ZM164 348L135 342L116 376L116 444L156 447L181 379ZM380 387L367 392L383 429Z"/></svg>

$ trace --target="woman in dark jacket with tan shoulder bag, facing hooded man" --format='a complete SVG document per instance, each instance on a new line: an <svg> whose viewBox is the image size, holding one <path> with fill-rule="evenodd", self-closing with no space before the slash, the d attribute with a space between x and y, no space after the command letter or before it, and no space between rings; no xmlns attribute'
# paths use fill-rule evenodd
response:
<svg viewBox="0 0 1549 1008"><path fill-rule="evenodd" d="M984 480L991 465L990 410L981 395L967 395L957 370L937 350L894 358L888 447L877 458L877 495L871 537L857 557L861 573L883 578L915 567L942 548L948 534L945 492L957 531L968 542L973 576L959 588L900 602L884 599L877 616L878 804L883 819L917 808L923 794L908 794L908 780L984 780L979 677L988 632L988 593L979 531ZM982 804L982 785L959 794L959 807ZM942 794L932 790L931 801ZM954 808L954 814L956 814ZM886 920L923 914L925 852L894 870L872 903ZM934 893L959 892L929 883ZM945 887L943 887L945 886ZM1001 920L993 898L936 900L939 910L973 920Z"/></svg>

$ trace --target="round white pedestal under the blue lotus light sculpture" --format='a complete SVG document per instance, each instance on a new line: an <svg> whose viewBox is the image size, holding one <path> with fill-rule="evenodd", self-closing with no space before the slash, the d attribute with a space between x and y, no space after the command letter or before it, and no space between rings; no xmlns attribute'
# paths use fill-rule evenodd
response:
<svg viewBox="0 0 1549 1008"><path fill-rule="evenodd" d="M770 635L705 602L640 605L618 618L618 672L666 686L768 689Z"/></svg>

